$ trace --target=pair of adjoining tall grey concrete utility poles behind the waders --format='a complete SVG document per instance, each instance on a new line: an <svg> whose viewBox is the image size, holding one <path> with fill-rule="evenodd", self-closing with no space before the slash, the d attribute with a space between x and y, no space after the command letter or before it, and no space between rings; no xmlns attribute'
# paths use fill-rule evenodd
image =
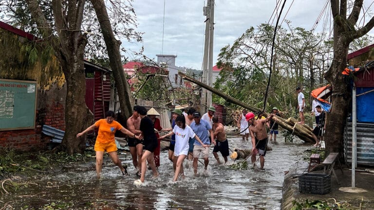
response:
<svg viewBox="0 0 374 210"><path fill-rule="evenodd" d="M204 40L204 57L203 57L203 74L201 82L212 86L212 67L213 67L213 29L214 29L214 0L207 0L206 6L203 7L205 20L205 40ZM212 104L212 93L202 88L201 93L201 114L206 113L208 106Z"/></svg>

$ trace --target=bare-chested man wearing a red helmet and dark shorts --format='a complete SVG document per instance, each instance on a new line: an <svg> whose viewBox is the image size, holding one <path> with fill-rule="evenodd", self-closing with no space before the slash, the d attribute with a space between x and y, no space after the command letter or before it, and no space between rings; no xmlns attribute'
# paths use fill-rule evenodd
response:
<svg viewBox="0 0 374 210"><path fill-rule="evenodd" d="M265 163L264 156L266 155L266 144L267 144L267 131L265 124L271 120L274 115L271 114L265 119L255 120L255 115L252 112L248 112L245 115L245 120L248 122L249 133L252 140L252 164L256 161L256 155L260 154L260 165L263 169Z"/></svg>

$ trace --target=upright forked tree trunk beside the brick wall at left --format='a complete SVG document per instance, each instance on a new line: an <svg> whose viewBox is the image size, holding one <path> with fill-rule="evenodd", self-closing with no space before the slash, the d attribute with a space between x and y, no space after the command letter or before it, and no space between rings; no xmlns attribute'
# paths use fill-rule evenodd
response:
<svg viewBox="0 0 374 210"><path fill-rule="evenodd" d="M26 0L31 15L45 40L50 40L57 60L65 75L67 94L65 104L65 135L56 150L69 154L83 153L85 139L77 140L76 134L83 130L90 113L86 103L86 80L83 55L87 39L81 30L85 0L53 0L52 8L56 33L46 20L37 0ZM69 8L65 11L63 8ZM91 114L92 115L92 114ZM91 122L90 122L91 123Z"/></svg>

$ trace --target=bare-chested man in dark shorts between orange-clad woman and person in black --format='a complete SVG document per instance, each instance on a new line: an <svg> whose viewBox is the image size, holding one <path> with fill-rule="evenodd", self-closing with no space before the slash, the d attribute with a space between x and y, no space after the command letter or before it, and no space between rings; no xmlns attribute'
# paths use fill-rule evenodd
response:
<svg viewBox="0 0 374 210"><path fill-rule="evenodd" d="M141 118L139 116L139 105L134 106L132 115L129 119L127 119L127 128L134 134L139 135L141 133L140 129L140 121ZM130 152L132 156L132 164L135 168L138 169L136 175L140 175L141 164L142 164L142 155L143 155L143 144L141 140L133 139L129 137L128 145L130 147Z"/></svg>

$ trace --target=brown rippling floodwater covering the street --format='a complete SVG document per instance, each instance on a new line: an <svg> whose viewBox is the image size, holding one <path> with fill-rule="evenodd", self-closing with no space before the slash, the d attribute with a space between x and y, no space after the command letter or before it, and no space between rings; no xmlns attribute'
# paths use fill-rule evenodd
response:
<svg viewBox="0 0 374 210"><path fill-rule="evenodd" d="M228 140L232 150L252 146L250 141L238 136L228 136ZM50 207L61 210L279 210L284 173L310 148L296 141L285 143L279 135L277 144L269 142L273 151L267 152L263 171L232 169L227 166L235 163L230 158L227 165L218 165L210 154L207 171L198 163L197 177L192 167L185 168L186 178L177 182L172 182L168 153L162 151L159 177L152 178L149 170L141 186L133 184L138 177L130 153L123 152L120 158L129 165L129 176L120 175L118 167L106 157L101 180L95 177L94 162L64 168L26 179L25 182L33 184L1 195L0 207L9 202L13 209L23 210Z"/></svg>

